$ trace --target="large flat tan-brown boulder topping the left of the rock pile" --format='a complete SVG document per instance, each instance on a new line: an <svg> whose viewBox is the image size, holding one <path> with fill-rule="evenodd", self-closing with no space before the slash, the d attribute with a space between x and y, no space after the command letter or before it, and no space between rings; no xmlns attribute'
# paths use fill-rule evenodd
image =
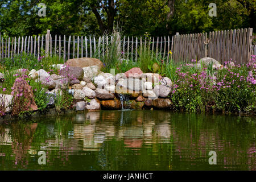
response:
<svg viewBox="0 0 256 182"><path fill-rule="evenodd" d="M71 67L90 67L93 65L97 65L100 69L103 67L103 63L96 59L91 57L81 57L76 59L69 59L65 64L71 66Z"/></svg>

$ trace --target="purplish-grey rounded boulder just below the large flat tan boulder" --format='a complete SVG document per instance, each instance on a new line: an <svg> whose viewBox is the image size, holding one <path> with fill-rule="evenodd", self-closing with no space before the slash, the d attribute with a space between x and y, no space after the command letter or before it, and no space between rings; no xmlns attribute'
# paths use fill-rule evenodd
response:
<svg viewBox="0 0 256 182"><path fill-rule="evenodd" d="M68 80L73 80L76 78L81 81L84 78L84 70L79 67L66 67L60 70L60 76L68 78Z"/></svg>

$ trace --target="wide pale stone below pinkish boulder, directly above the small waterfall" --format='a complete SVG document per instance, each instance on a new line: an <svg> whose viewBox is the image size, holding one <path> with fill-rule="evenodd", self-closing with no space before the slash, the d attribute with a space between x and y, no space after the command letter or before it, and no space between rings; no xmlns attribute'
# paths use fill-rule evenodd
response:
<svg viewBox="0 0 256 182"><path fill-rule="evenodd" d="M144 90L144 81L136 78L126 78L118 81L116 87L117 89L141 91Z"/></svg>

